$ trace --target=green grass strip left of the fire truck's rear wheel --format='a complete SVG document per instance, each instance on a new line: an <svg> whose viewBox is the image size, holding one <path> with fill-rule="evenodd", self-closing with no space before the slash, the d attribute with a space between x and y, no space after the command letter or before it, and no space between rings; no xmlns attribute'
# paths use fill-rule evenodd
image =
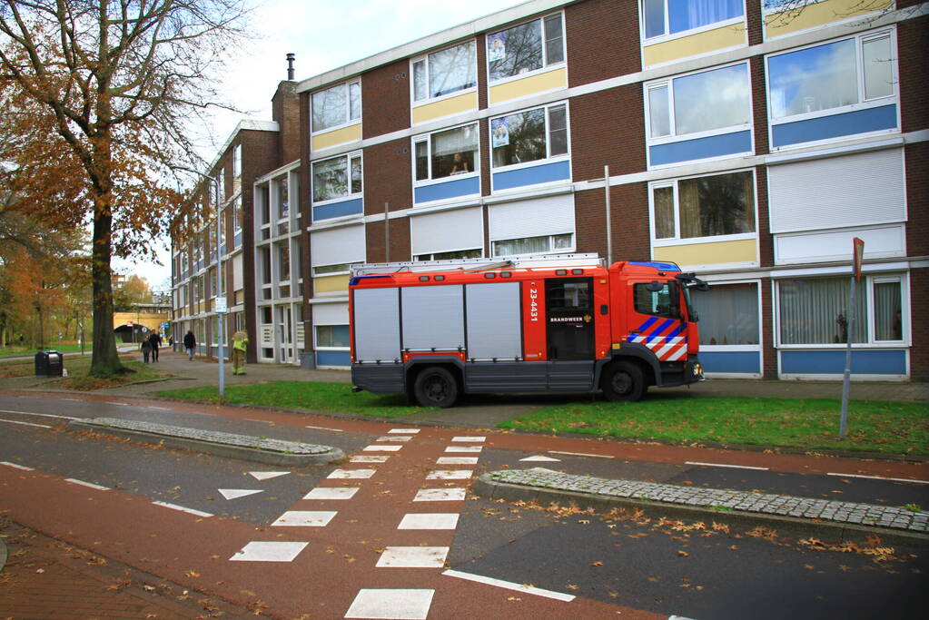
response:
<svg viewBox="0 0 929 620"><path fill-rule="evenodd" d="M156 394L167 398L218 403L215 387L184 390L167 390ZM428 411L425 407L411 407L401 395L377 395L369 392L352 394L348 383L308 383L306 381L269 381L255 385L226 386L224 403L260 405L309 411L354 413L373 418L397 418Z"/></svg>

